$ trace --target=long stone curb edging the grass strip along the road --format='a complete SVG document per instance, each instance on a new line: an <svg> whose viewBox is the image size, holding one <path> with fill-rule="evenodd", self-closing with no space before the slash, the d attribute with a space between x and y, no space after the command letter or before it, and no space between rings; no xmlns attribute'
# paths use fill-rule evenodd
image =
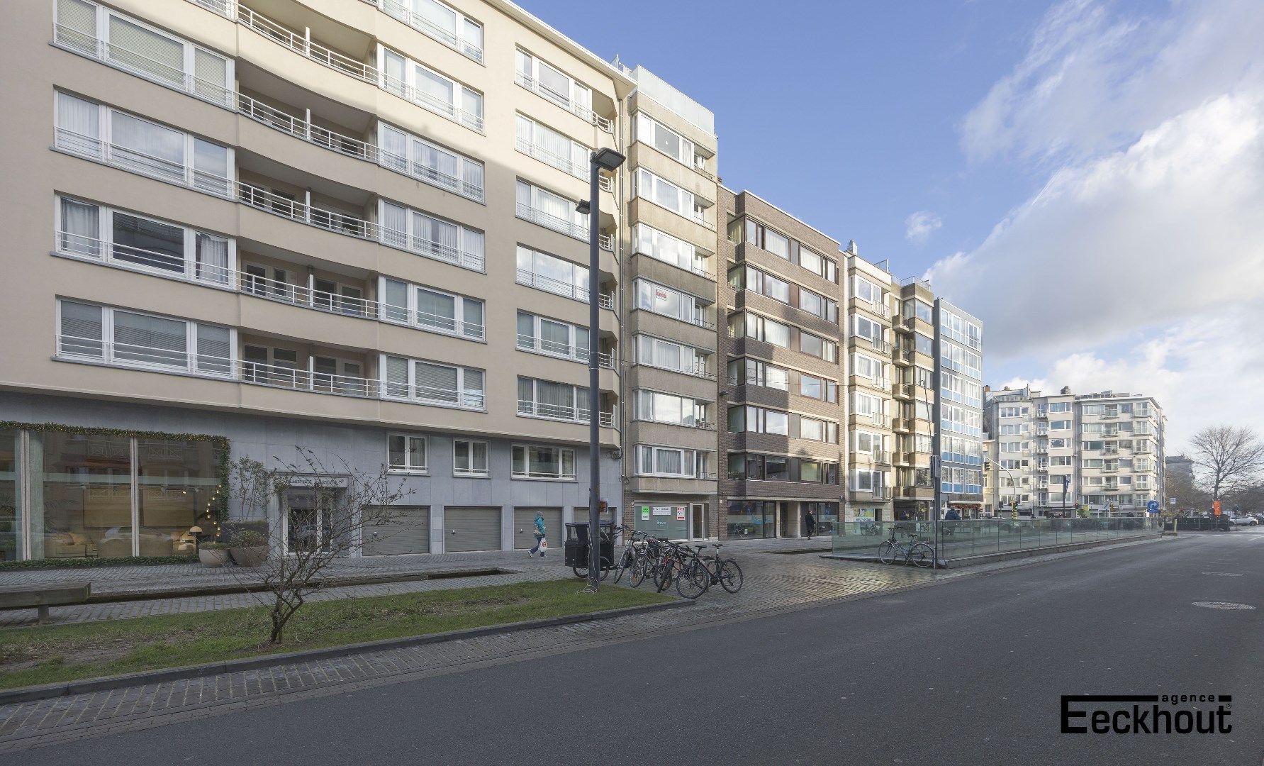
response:
<svg viewBox="0 0 1264 766"><path fill-rule="evenodd" d="M621 609L604 609L602 612L579 612L575 614L562 614L560 617L547 617L545 619L527 619L506 624L483 626L478 628L463 628L460 631L446 631L442 633L426 633L422 636L403 636L399 638L383 638L380 641L365 641L360 643L344 643L340 646L326 646L300 652L284 652L277 655L260 655L258 657L244 657L241 660L225 660L222 662L207 662L205 665L185 665L182 667L163 667L158 670L143 670L124 675L112 675L100 679L85 679L78 681L59 681L57 684L43 684L39 686L19 686L18 689L0 690L0 705L14 703L51 699L54 696L73 696L76 694L88 694L104 691L106 689L120 689L125 686L140 686L145 684L159 684L163 681L176 681L181 679L195 679L222 672L235 672L240 670L258 670L260 667L274 667L278 665L295 665L313 660L329 660L358 655L364 652L402 648L406 646L421 646L425 643L442 643L445 641L459 641L461 638L475 638L479 636L492 636L497 633L517 633L533 628L547 628L576 622L590 622L598 619L613 619L631 614L643 614L647 612L661 612L678 607L693 605L695 602L685 599L672 599L659 604L641 604L638 607L623 607Z"/></svg>

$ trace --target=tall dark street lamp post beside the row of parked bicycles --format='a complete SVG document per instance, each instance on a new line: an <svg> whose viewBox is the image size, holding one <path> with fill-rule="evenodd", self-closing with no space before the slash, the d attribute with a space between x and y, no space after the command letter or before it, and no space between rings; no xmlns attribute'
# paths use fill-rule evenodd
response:
<svg viewBox="0 0 1264 766"><path fill-rule="evenodd" d="M617 171L624 157L614 149L593 152L589 158L588 201L576 210L588 214L588 587L597 593L602 581L602 461L600 461L600 215L602 171Z"/></svg>

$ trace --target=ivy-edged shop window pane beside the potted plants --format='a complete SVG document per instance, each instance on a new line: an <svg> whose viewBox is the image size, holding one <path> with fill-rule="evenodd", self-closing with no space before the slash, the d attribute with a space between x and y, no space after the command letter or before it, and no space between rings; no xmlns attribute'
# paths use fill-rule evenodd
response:
<svg viewBox="0 0 1264 766"><path fill-rule="evenodd" d="M207 441L137 440L137 499L142 556L192 556L196 532L210 531L211 498L219 487Z"/></svg>

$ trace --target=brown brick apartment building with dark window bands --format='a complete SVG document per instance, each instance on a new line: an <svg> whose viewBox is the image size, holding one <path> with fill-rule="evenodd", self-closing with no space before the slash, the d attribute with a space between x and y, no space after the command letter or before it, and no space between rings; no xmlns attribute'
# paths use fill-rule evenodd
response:
<svg viewBox="0 0 1264 766"><path fill-rule="evenodd" d="M798 537L810 514L828 535L847 475L838 243L750 191L719 193L724 533Z"/></svg>

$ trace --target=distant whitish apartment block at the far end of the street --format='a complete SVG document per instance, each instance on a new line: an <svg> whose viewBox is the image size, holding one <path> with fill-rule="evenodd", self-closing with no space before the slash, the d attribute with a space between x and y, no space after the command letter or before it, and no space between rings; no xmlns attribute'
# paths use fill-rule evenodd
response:
<svg viewBox="0 0 1264 766"><path fill-rule="evenodd" d="M997 509L1139 516L1159 501L1164 417L1153 397L983 388Z"/></svg>

